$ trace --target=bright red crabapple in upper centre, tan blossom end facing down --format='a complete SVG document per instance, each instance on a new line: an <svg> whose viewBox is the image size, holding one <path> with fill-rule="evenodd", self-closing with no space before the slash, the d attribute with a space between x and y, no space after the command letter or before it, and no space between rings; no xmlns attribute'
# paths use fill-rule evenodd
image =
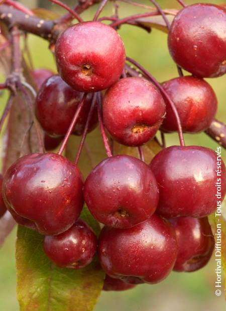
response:
<svg viewBox="0 0 226 311"><path fill-rule="evenodd" d="M108 89L103 99L103 121L118 142L142 145L153 138L165 115L159 90L143 78L125 78Z"/></svg>

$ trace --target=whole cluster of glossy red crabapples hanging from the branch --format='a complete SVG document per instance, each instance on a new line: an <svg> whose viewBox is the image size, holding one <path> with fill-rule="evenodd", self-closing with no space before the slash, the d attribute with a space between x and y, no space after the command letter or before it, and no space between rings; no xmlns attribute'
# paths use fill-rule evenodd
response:
<svg viewBox="0 0 226 311"><path fill-rule="evenodd" d="M183 132L204 131L217 99L203 78L226 72L225 33L221 7L197 4L179 11L170 27L169 51L191 75L159 89L145 75L127 75L124 44L113 28L100 22L69 27L55 46L59 74L33 73L40 87L36 116L47 149L67 134L78 107L73 134L93 130L100 109L111 138L127 146L140 147L159 129L177 131L178 116ZM33 153L9 168L2 190L0 212L6 206L19 224L45 235L44 251L56 265L82 268L97 250L106 272L103 288L123 290L208 262L214 238L207 216L225 196L226 171L215 151L182 143L163 148L150 164L110 154L83 182L77 165L61 154ZM79 219L84 202L104 225L98 240Z"/></svg>

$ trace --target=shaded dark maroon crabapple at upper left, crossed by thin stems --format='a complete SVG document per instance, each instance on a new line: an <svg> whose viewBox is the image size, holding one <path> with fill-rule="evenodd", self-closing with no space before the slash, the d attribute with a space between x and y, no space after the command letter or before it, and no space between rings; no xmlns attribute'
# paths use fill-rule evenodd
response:
<svg viewBox="0 0 226 311"><path fill-rule="evenodd" d="M82 96L83 93L73 90L59 75L51 76L42 84L35 101L36 116L42 128L50 135L65 135ZM91 100L92 94L88 94L73 134L82 134ZM96 127L97 120L95 108L89 123L89 131Z"/></svg>

